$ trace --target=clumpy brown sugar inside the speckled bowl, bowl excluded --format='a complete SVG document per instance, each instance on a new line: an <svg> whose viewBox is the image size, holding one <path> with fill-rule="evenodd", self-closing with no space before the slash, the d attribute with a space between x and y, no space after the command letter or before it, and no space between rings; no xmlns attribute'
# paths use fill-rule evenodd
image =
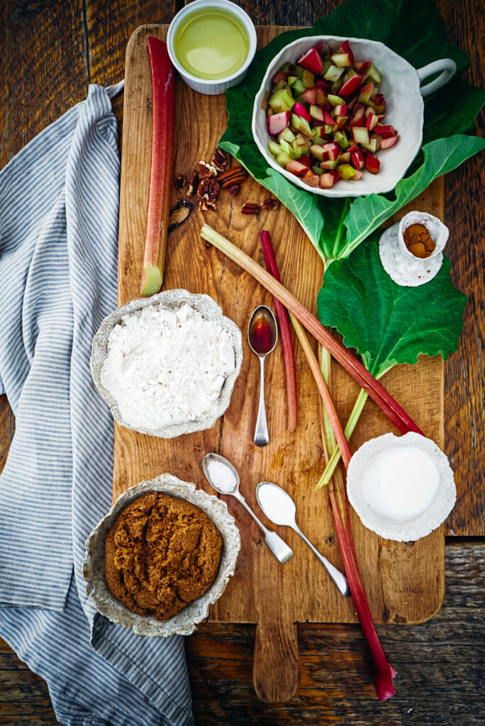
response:
<svg viewBox="0 0 485 726"><path fill-rule="evenodd" d="M211 587L222 547L199 507L160 492L143 494L107 534L107 586L134 613L167 620Z"/></svg>

